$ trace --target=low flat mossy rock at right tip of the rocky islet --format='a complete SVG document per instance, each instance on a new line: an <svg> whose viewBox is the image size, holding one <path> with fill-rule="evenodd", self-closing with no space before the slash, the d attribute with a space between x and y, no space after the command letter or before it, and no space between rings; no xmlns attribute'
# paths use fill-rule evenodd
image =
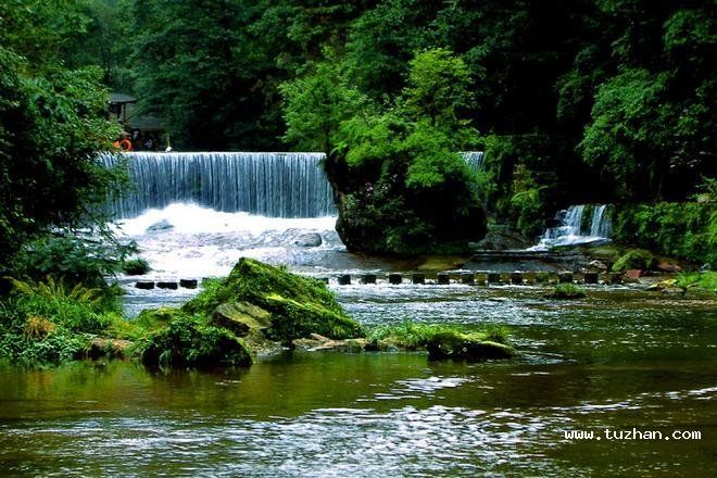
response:
<svg viewBox="0 0 717 478"><path fill-rule="evenodd" d="M515 352L504 343L483 340L479 334L442 331L433 335L426 343L429 360L455 358L481 361L510 358Z"/></svg>

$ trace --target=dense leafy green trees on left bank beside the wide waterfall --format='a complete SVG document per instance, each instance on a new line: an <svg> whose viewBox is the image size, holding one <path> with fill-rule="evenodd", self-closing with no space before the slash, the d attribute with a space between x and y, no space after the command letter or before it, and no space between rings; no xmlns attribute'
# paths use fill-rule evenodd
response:
<svg viewBox="0 0 717 478"><path fill-rule="evenodd" d="M111 147L118 126L106 120L102 71L70 60L90 23L84 10L63 0L0 4L2 275L52 274L97 286L111 268L98 256L97 238L110 236L96 205L122 175L97 153Z"/></svg>

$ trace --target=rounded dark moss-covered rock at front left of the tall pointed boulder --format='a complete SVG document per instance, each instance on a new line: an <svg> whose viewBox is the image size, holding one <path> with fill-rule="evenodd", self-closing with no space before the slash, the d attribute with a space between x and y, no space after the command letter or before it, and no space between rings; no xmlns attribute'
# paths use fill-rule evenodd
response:
<svg viewBox="0 0 717 478"><path fill-rule="evenodd" d="M141 337L135 343L133 356L152 366L210 367L252 363L249 349L231 331L181 311L172 313L165 326Z"/></svg>

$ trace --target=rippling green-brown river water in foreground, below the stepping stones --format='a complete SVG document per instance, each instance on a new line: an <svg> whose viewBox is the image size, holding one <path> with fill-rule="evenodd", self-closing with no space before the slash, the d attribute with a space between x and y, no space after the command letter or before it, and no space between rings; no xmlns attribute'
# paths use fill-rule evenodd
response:
<svg viewBox="0 0 717 478"><path fill-rule="evenodd" d="M575 302L526 287L336 290L368 326L496 324L520 355L466 364L301 352L213 372L121 361L2 366L1 476L714 476L709 297L605 287ZM633 428L669 440L604 435ZM595 438L566 439L571 430Z"/></svg>

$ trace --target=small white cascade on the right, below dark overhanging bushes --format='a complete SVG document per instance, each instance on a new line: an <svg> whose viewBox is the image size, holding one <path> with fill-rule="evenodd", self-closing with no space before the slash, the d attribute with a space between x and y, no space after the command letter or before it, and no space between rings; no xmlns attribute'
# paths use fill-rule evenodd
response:
<svg viewBox="0 0 717 478"><path fill-rule="evenodd" d="M613 224L607 204L577 204L555 215L557 227L549 227L538 244L529 251L546 251L559 246L596 244L609 242Z"/></svg>

